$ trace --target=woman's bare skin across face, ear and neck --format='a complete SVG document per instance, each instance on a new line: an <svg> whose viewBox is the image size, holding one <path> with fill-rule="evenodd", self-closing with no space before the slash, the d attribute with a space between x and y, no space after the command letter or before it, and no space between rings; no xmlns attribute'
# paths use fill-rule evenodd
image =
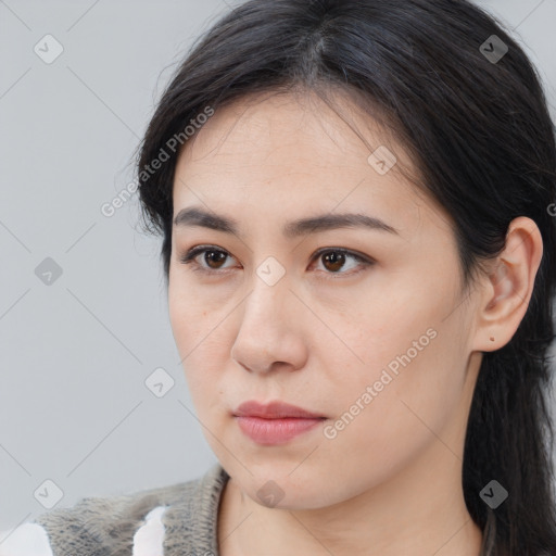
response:
<svg viewBox="0 0 556 556"><path fill-rule="evenodd" d="M356 114L346 99L337 103ZM366 123L369 144L387 144L412 168L404 150ZM194 205L239 223L238 235L175 226L168 282L197 415L230 475L218 514L222 556L479 555L482 535L460 481L469 406L481 352L505 345L525 315L541 235L516 218L505 251L464 295L450 218L396 166L377 173L369 153L318 98L289 93L219 109L177 161L174 216ZM343 212L400 233L281 235L290 219ZM195 245L228 257L200 254L199 267L213 275L194 271L179 257ZM346 256L334 266L326 253L314 256L320 248L375 264ZM286 271L274 286L256 274L270 255ZM434 339L326 438L324 427L429 329ZM247 400L281 400L327 419L287 444L260 445L232 416ZM268 480L281 490L278 504L257 496Z"/></svg>

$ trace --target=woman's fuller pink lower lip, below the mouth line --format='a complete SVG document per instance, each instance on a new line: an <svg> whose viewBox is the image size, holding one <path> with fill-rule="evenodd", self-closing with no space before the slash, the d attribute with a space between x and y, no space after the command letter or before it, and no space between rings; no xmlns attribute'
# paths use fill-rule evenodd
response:
<svg viewBox="0 0 556 556"><path fill-rule="evenodd" d="M302 419L298 417L281 419L236 417L236 419L239 428L258 444L285 444L323 422L323 419Z"/></svg>

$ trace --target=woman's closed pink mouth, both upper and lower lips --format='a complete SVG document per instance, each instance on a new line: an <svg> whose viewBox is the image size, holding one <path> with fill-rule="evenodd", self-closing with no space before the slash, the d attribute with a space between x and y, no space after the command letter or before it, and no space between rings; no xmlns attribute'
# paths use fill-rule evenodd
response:
<svg viewBox="0 0 556 556"><path fill-rule="evenodd" d="M242 403L235 412L241 431L257 444L285 444L317 427L325 416L283 402Z"/></svg>

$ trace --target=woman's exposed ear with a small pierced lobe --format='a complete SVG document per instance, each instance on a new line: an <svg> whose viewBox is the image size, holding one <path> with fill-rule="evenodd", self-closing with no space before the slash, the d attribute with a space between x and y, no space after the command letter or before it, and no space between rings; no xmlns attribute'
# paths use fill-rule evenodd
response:
<svg viewBox="0 0 556 556"><path fill-rule="evenodd" d="M529 306L542 256L536 224L526 216L511 220L504 251L482 282L472 350L491 352L511 340Z"/></svg>

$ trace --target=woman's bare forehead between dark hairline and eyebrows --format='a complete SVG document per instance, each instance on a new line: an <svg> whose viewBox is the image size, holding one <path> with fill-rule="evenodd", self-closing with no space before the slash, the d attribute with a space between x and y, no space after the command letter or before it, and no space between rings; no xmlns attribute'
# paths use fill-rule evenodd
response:
<svg viewBox="0 0 556 556"><path fill-rule="evenodd" d="M174 216L200 201L208 210L251 207L269 217L367 210L395 219L403 233L421 211L434 210L397 172L399 164L412 169L404 150L389 137L397 162L378 173L369 148L381 147L386 135L342 98L334 108L339 113L316 94L266 94L216 110L178 157Z"/></svg>

